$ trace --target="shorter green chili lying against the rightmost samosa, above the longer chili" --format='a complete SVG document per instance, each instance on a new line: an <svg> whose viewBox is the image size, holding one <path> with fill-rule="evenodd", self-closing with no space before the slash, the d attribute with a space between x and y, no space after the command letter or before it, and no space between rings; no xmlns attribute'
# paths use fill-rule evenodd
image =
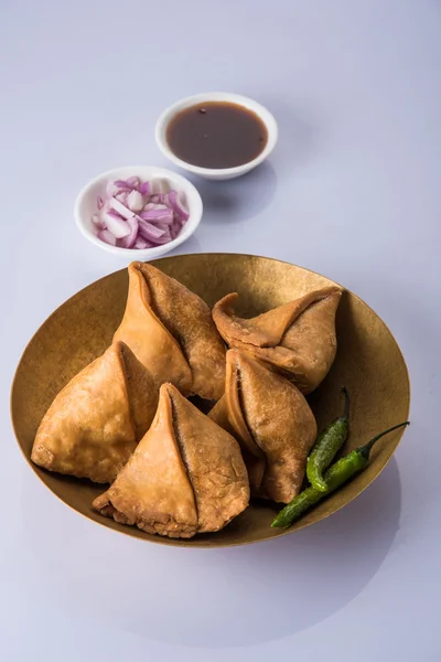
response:
<svg viewBox="0 0 441 662"><path fill-rule="evenodd" d="M319 436L306 462L308 480L319 492L326 492L327 484L323 471L346 441L349 430L349 394L346 388L343 388L343 392L346 397L343 416L335 418Z"/></svg>

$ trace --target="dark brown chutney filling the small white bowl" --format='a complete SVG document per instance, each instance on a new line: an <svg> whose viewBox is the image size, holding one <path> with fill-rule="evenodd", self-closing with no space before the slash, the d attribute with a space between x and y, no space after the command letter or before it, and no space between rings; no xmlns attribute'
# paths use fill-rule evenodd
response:
<svg viewBox="0 0 441 662"><path fill-rule="evenodd" d="M235 168L265 149L268 130L256 113L239 104L206 102L178 113L166 141L182 161L202 168Z"/></svg>

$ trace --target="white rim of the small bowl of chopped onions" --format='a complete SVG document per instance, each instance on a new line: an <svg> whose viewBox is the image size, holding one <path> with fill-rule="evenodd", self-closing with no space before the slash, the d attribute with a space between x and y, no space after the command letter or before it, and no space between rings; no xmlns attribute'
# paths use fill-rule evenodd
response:
<svg viewBox="0 0 441 662"><path fill-rule="evenodd" d="M100 239L98 239L97 236L95 236L93 233L90 233L85 225L83 215L80 213L80 206L82 206L84 199L86 197L86 195L90 192L90 190L95 185L99 184L105 179L121 177L121 173L125 173L125 172L127 174L129 174L129 173L132 173L132 171L139 172L142 170L154 170L158 173L158 175L155 175L155 177L163 178L166 180L176 180L179 182L178 186L180 186L183 191L185 191L185 193L187 195L191 194L192 202L196 209L193 210L192 213L190 214L189 221L185 223L183 229L178 235L178 237L175 237L168 244L162 244L161 246L153 246L151 248L139 249L139 248L121 248L120 246L111 246L110 244L106 244L105 242L101 242ZM116 173L119 173L119 174L117 175ZM180 174L179 172L174 172L174 170L169 170L168 168L162 168L160 166L121 166L120 168L112 168L111 170L106 170L106 172L101 172L100 174L94 177L92 180L89 180L87 182L87 184L85 184L80 189L79 193L77 194L77 196L75 199L75 203L74 203L75 223L76 223L77 228L79 229L82 235L84 237L86 237L86 239L88 239L95 246L98 246L98 248L106 250L107 253L112 253L114 255L126 256L126 257L133 258L133 259L159 258L159 257L165 255L165 253L169 253L170 250L173 250L173 248L176 248L178 246L183 244L183 242L186 242L186 239L189 239L194 234L197 226L200 225L200 223L202 221L203 212L204 212L204 205L202 202L201 193L197 191L196 186L190 180L187 180L184 175Z"/></svg>

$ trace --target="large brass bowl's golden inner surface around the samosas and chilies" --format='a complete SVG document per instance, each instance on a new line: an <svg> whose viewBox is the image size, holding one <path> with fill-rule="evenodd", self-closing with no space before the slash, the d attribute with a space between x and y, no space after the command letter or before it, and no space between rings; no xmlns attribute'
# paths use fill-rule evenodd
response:
<svg viewBox="0 0 441 662"><path fill-rule="evenodd" d="M186 285L209 306L227 292L239 292L241 308L237 312L244 317L332 284L301 267L251 255L179 255L152 264ZM100 516L92 510L90 503L104 487L40 469L31 462L30 456L36 428L55 395L110 343L122 317L127 286L123 269L97 280L63 303L29 343L12 386L12 421L23 455L45 485L73 509L116 531L165 545L244 545L287 535L319 522L355 499L384 469L401 438L401 430L375 446L366 471L286 531L270 528L277 508L260 503L251 504L224 531L190 541L149 535ZM338 308L337 339L335 363L309 399L321 429L342 410L341 386L347 386L352 396L347 449L353 449L376 433L408 418L409 377L402 354L386 324L348 291Z"/></svg>

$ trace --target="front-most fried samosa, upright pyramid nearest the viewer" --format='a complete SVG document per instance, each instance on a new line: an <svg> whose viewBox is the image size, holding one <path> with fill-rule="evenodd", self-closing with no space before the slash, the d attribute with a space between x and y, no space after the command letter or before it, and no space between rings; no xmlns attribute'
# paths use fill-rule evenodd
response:
<svg viewBox="0 0 441 662"><path fill-rule="evenodd" d="M237 441L172 384L163 384L150 430L93 506L148 533L192 537L219 531L248 501Z"/></svg>

